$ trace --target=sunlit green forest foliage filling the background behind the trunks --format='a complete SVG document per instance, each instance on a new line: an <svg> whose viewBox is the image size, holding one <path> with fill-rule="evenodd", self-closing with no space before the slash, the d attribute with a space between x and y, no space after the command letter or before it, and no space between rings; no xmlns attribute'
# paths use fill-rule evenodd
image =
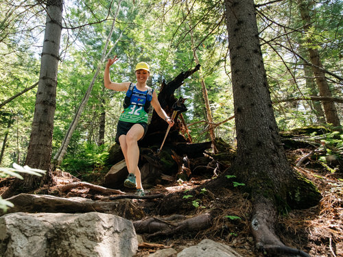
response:
<svg viewBox="0 0 343 257"><path fill-rule="evenodd" d="M43 34L45 12L37 1L29 0L25 3L14 5L7 0L0 3L0 102L38 81L43 40L40 35ZM257 0L255 3L264 2ZM91 82L117 5L118 1L86 0L71 1L70 5L64 7L64 21L67 27L73 29L64 29L61 40L62 62L58 70L53 154L60 147ZM310 12L311 28L302 32L303 21L298 6L292 2L283 1L257 7L259 14L263 14L257 15L257 19L272 101L313 94L309 89L309 78L314 75L305 72L303 61L294 54L298 53L309 60L307 47L318 49L325 69L341 74L342 8L338 0L316 3L316 11ZM192 5L187 1L177 4L174 1L122 1L115 33L109 45L109 49L113 47L123 32L118 44L110 52L110 56L119 57L111 69L111 79L113 82L134 82L132 67L138 61L145 61L150 63L152 69L148 85L158 93L163 79L170 82L180 72L195 66L191 45L193 41L202 66L213 121L220 123L232 117L233 92L223 14L224 5L221 1L195 1ZM309 40L312 45L309 45ZM292 47L292 52L285 47ZM87 146L99 145L99 117L102 112L106 112L105 143L110 145L115 140L124 94L104 89L102 72L97 77L62 164L63 169L75 174L103 167L102 153L105 150ZM342 97L340 84L329 77L333 95ZM12 162L23 163L25 160L35 95L36 88L3 107L2 111L11 113L14 121L10 128L5 122L0 127L0 138L9 132L1 162L5 167ZM189 110L183 116L186 123L193 123L189 125L193 142L209 140L209 133L205 132L208 124L199 73L185 79L185 84L176 90L176 96L187 97ZM274 103L273 108L281 130L318 123L311 101ZM338 106L342 121L341 110L342 107ZM235 140L235 120L231 119L215 127L215 136L227 142ZM336 137L323 140L327 147L320 160L327 161L327 156L337 156L336 153L340 152L336 149L342 148L342 140Z"/></svg>

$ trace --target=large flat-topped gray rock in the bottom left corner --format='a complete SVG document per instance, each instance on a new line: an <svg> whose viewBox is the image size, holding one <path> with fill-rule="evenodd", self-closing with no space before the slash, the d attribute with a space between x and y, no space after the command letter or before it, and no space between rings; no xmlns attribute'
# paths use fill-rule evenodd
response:
<svg viewBox="0 0 343 257"><path fill-rule="evenodd" d="M131 257L138 249L131 221L99 212L16 212L0 217L2 257Z"/></svg>

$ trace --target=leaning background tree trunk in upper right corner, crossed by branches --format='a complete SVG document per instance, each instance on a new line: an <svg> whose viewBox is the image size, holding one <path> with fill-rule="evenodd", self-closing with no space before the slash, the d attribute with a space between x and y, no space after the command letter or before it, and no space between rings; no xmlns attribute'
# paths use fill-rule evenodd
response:
<svg viewBox="0 0 343 257"><path fill-rule="evenodd" d="M300 10L301 19L303 19L305 31L308 32L311 24L310 5L313 5L312 1L302 1L298 0L298 8ZM307 39L309 45L313 45L311 38ZM316 82L319 88L320 95L322 97L331 97L331 90L327 79L325 78L325 73L322 71L322 62L320 60L318 49L309 47L309 58L311 60L312 71L316 77ZM331 123L334 127L340 126L340 119L338 118L337 110L335 108L335 103L330 101L323 102L325 117L327 118L327 123Z"/></svg>

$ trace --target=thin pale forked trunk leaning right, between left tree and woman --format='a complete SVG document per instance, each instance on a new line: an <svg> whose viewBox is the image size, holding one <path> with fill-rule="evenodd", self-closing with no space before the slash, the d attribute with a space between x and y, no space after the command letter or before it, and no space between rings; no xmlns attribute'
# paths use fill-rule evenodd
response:
<svg viewBox="0 0 343 257"><path fill-rule="evenodd" d="M60 149L58 149L56 155L54 156L54 166L55 167L60 166L60 164L62 163L62 160L64 158L64 155L67 153L67 147L70 143L71 136L73 136L73 132L75 131L76 126L78 125L78 122L80 120L81 114L82 114L82 112L86 106L86 103L88 102L88 99L91 95L91 91L92 91L93 86L95 84L95 80L97 79L97 76L99 75L99 71L102 68L102 65L104 64L104 61L106 60L106 58L108 58L108 55L110 53L110 51L108 51L108 54L106 55L108 43L110 42L110 38L112 37L113 30L115 29L115 21L117 18L117 14L119 12L120 5L121 5L121 1L119 1L119 3L118 3L117 12L115 13L115 17L113 19L112 27L110 29L110 33L108 34L108 37L106 40L104 51L102 51L102 58L100 59L99 64L97 65L97 70L95 71L95 74L93 76L91 83L88 86L86 94L84 95L84 97L80 103L80 106L78 107L78 110L76 111L76 114L75 114L73 121L71 121L71 124L69 125L69 128L67 130L67 134L64 136L64 139L62 141L62 145L60 146ZM119 37L119 39L120 38L121 38L121 36ZM118 42L118 40L117 40L117 42ZM114 46L117 44L117 42L115 42ZM112 47L112 49L113 49L113 47Z"/></svg>

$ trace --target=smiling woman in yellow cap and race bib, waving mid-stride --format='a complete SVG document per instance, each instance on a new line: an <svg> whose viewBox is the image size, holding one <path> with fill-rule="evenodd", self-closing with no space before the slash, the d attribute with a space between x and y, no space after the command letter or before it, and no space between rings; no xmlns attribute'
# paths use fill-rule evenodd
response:
<svg viewBox="0 0 343 257"><path fill-rule="evenodd" d="M150 76L149 65L145 62L139 62L136 65L135 74L137 83L135 85L131 82L115 83L110 81L110 66L117 60L117 56L108 60L104 73L104 84L106 88L127 92L125 100L128 101L125 101L126 106L124 105L124 110L119 117L116 142L120 144L129 172L124 186L137 188L136 194L143 196L144 190L141 182L141 171L138 168L139 147L137 142L143 138L147 131L147 110L143 106L151 98L148 92L152 92L151 105L158 116L167 121L170 126L174 125L174 121L161 108L155 91L146 84ZM131 84L132 86L130 87Z"/></svg>

